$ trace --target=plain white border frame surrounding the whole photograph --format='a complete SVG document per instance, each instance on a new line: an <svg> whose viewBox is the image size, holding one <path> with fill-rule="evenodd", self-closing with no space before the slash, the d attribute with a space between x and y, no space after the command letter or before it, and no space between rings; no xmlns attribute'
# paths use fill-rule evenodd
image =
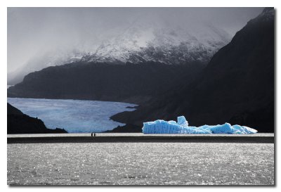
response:
<svg viewBox="0 0 281 192"><path fill-rule="evenodd" d="M77 189L83 189L86 191L92 191L92 190L99 190L99 191L105 191L108 189L112 189L115 191L154 191L154 190L161 190L161 191L171 191L171 190L177 190L177 191L186 191L186 190L202 190L206 189L208 191L248 191L248 190L254 190L254 191L273 191L277 188L280 188L281 185L281 179L280 177L277 177L277 173L280 172L280 165L278 165L277 160L280 160L280 147L277 146L278 139L280 139L279 131L281 129L280 127L280 113L277 113L280 111L280 102L277 101L278 96L280 96L280 67L279 67L279 59L278 56L280 56L280 49L277 49L280 47L280 38L279 34L277 32L280 32L280 14L279 14L279 8L280 8L280 0L233 0L233 1L223 1L223 0L195 0L195 1L183 1L183 0L173 0L173 1L164 1L164 0L138 0L138 1L126 1L126 0L102 0L102 1L91 1L91 0L1 0L0 4L0 19L1 19L1 30L0 30L0 53L1 53L1 75L0 75L0 86L1 86L1 96L0 96L0 109L1 109L1 180L0 180L0 187L1 191L8 191L8 190L20 190L20 191L37 191L38 189L46 191L46 190L55 190L55 191L74 191ZM277 72L276 75L276 110L275 110L275 185L277 187L118 187L118 188L112 188L112 187L8 187L7 186L7 144L6 144L6 102L7 102L7 7L37 7L37 6L43 6L43 7L130 7L130 6L136 6L136 7L275 7L276 10L276 30L275 30L275 37L276 37L276 50L275 50L275 65Z"/></svg>

